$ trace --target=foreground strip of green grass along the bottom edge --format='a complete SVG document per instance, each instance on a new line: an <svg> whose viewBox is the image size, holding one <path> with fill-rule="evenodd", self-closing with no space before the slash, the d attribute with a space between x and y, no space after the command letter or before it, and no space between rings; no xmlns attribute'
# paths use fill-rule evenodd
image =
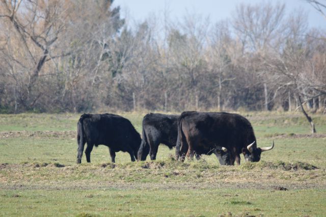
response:
<svg viewBox="0 0 326 217"><path fill-rule="evenodd" d="M0 196L2 215L67 216L322 216L324 190L251 189L13 190ZM307 197L307 195L311 195ZM273 201L270 199L273 198Z"/></svg>

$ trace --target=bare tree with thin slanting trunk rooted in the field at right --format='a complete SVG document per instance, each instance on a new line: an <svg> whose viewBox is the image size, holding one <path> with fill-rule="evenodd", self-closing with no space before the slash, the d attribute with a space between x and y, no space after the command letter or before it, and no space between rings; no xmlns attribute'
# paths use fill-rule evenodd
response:
<svg viewBox="0 0 326 217"><path fill-rule="evenodd" d="M315 67L311 61L313 53L318 52L318 49L310 46L309 40L305 37L306 22L304 20L300 14L289 18L284 44L276 47L273 58L265 59L265 63L267 68L278 76L279 87L291 89L294 93L302 113L311 125L311 132L315 133L314 123L304 110L303 103L308 103L313 97L318 96L312 94L315 93L314 90L318 91L318 94L323 94L325 87L312 76ZM282 52L279 52L280 49ZM319 77L319 79L324 78Z"/></svg>

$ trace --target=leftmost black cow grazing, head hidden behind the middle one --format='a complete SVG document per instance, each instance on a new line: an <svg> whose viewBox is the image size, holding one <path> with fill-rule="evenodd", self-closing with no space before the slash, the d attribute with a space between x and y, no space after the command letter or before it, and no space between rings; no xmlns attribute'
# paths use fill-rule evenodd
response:
<svg viewBox="0 0 326 217"><path fill-rule="evenodd" d="M115 162L118 151L128 152L131 161L135 161L141 141L140 134L124 117L113 114L84 114L80 116L77 124L77 164L82 162L85 143L87 143L85 150L87 162L91 162L94 145L107 146L112 162Z"/></svg>

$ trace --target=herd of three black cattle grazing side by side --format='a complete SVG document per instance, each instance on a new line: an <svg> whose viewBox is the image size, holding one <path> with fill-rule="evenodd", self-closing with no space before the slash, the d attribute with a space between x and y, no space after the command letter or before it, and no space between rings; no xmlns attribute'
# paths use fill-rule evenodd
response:
<svg viewBox="0 0 326 217"><path fill-rule="evenodd" d="M200 158L215 154L221 165L257 162L261 152L274 148L258 148L251 123L241 115L230 113L183 112L178 115L147 114L142 123L142 138L131 122L114 114L84 114L77 123L77 164L82 162L85 143L87 162L91 162L94 145L108 147L112 162L116 152L130 154L131 161L156 159L159 144L176 147L175 157Z"/></svg>

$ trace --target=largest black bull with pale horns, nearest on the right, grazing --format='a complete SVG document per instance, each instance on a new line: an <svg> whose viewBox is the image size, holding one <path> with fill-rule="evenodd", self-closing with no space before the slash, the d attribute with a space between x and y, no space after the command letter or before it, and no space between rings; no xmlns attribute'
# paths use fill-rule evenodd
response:
<svg viewBox="0 0 326 217"><path fill-rule="evenodd" d="M226 147L231 165L240 164L240 153L246 161L257 162L260 154L274 147L257 148L256 137L250 122L238 114L183 112L179 118L180 147L176 155L193 157L198 149L210 150Z"/></svg>

